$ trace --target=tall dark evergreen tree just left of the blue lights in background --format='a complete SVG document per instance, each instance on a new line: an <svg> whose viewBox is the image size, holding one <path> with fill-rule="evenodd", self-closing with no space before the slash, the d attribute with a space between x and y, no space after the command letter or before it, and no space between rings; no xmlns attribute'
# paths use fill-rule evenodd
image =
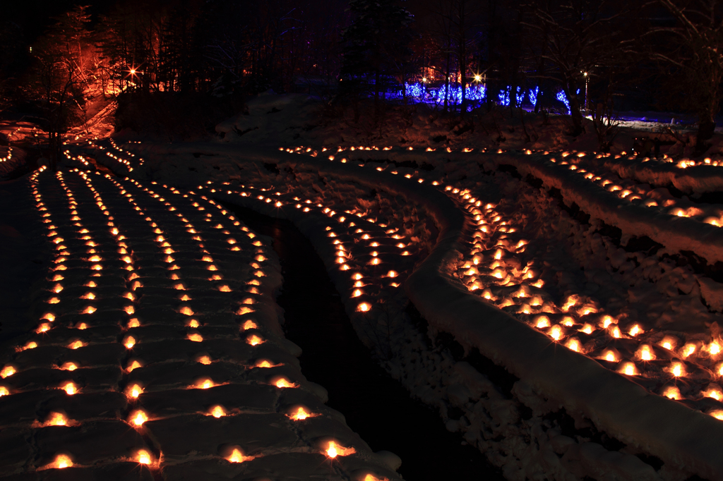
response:
<svg viewBox="0 0 723 481"><path fill-rule="evenodd" d="M377 123L382 88L411 57L414 17L393 0L351 0L349 9L354 18L342 35L340 93L351 100L354 120L359 121L359 98L374 92Z"/></svg>

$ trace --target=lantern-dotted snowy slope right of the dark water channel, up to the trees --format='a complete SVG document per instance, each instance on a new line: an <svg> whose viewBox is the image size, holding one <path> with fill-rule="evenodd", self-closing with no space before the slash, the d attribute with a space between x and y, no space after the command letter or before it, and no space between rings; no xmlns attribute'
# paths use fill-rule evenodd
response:
<svg viewBox="0 0 723 481"><path fill-rule="evenodd" d="M364 343L510 480L723 479L717 141L669 162L625 135L595 153L561 118L447 138L426 114L382 132L314 107L263 95L221 142L66 162L293 220Z"/></svg>

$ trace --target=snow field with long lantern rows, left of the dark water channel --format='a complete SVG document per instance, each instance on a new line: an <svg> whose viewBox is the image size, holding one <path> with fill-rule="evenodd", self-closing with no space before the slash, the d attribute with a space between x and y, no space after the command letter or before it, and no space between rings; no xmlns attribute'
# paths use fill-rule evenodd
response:
<svg viewBox="0 0 723 481"><path fill-rule="evenodd" d="M3 355L3 476L399 479L306 381L275 254L213 200L67 170L28 189L54 268Z"/></svg>

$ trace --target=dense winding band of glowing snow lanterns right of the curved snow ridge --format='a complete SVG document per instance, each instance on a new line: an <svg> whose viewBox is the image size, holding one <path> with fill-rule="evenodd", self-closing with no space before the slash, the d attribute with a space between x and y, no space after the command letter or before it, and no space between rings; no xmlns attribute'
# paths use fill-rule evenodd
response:
<svg viewBox="0 0 723 481"><path fill-rule="evenodd" d="M460 202L463 202L466 204L468 211L471 215L474 215L474 220L479 228L479 230L475 233L475 238L480 237L482 238L483 235L488 235L493 232L493 230L502 229L502 232L513 232L513 228L507 228L505 229L505 222L500 221L500 215L495 212L494 208L495 206L493 204L487 204L485 207L485 214L487 215L487 219L484 218L484 215L482 215L482 211L479 209L479 205L476 205L476 202L474 198L469 196L469 193L466 191L460 191L457 188L451 188L450 186L447 186L445 188L445 191L452 191L453 194L458 195L458 200ZM497 225L495 225L497 223ZM518 243L515 248L523 248L523 246L526 244L525 241L521 241ZM479 248L482 248L480 246ZM482 262L484 259L484 256L480 255L479 248L474 248L471 251L471 261L467 261L465 264L463 264L462 269L465 269L466 276L470 277L471 283L469 283L469 290L475 291L475 290L482 290L482 297L486 298L487 300L490 300L492 302L495 302L498 307L505 307L505 306L511 306L514 304L514 301L504 298L501 300L498 300L495 298L492 293L489 291L489 289L484 288L481 284L479 284L479 281L474 278L474 276L477 274L476 266ZM509 247L508 247L509 248ZM508 248L502 248L497 247L495 250L494 255L494 261L491 265L488 267L490 269L494 268L493 270L493 276L497 277L497 279L500 279L500 282L502 282L504 285L515 285L515 284L522 284L528 279L531 279L534 277L534 275L526 276L523 275L522 279L515 280L513 278L510 278L510 276L506 275L506 272L499 271L499 267L502 265L500 264L500 261L503 261L504 256L508 254ZM482 250L489 250L484 249ZM534 287L542 287L543 282L542 280L537 280L534 283L531 283ZM521 285L521 288L513 293L513 297L529 297L533 300L533 302L530 303L529 306L523 305L521 313L525 314L531 314L531 308L537 308L536 310L542 310L542 313L537 314L534 319L532 320L531 324L536 327L536 329L541 330L545 334L547 334L552 340L555 342L563 342L566 339L566 342L564 343L565 347L568 347L570 350L580 352L581 354L585 354L586 352L583 349L583 345L581 344L580 340L577 337L569 336L568 330L573 328L578 330L579 332L582 332L584 334L591 334L598 328L606 329L609 333L610 337L613 339L620 339L620 338L628 338L633 339L640 334L643 334L643 329L639 324L633 324L628 328L628 331L626 333L623 333L620 329L620 326L617 325L617 320L609 315L602 315L599 316L599 326L594 326L593 324L589 322L580 323L576 321L576 319L573 316L563 316L562 320L560 321L560 324L552 324L552 321L550 320L549 316L547 316L544 312L544 310L547 308L549 311L548 313L556 313L557 311L561 311L562 313L570 313L570 311L573 311L573 309L576 311L576 313L579 316L585 317L589 315L594 315L597 313L598 309L594 304L591 303L584 303L582 302L581 298L579 298L576 295L570 295L567 300L565 301L565 304L563 306L560 306L559 308L557 306L551 305L547 306L546 303L542 302L542 298L539 298L539 296L530 295L529 292L527 292L526 288ZM581 326L579 324L582 324ZM576 327L577 326L577 327ZM696 344L693 342L688 342L683 345L683 347L680 348L678 354L681 358L689 358L691 355L696 354L698 352L707 352L708 355L711 358L717 359L722 353L722 344L721 342L717 342L716 340L711 341L708 345L699 345L700 343ZM675 352L677 348L677 339L672 336L664 337L659 343L659 347L662 347L666 350ZM613 348L604 349L602 351L602 355L600 356L601 359L604 359L608 362L614 362L617 363L617 371L620 373L623 373L627 376L640 376L642 373L638 371L638 367L636 363L633 363L632 360L623 360L620 357L620 353L617 352L617 350ZM648 361L656 360L656 355L654 353L654 349L651 346L650 343L643 342L641 345L639 345L638 350L636 350L636 360L641 361L643 363ZM685 369L685 363L681 362L680 360L672 360L669 365L664 368L664 372L669 373L672 379L681 378L686 375L686 369ZM715 374L716 376L723 377L723 362L719 362L715 366ZM665 397L669 397L670 399L682 399L680 394L680 389L677 388L675 385L666 385L662 389L662 394ZM723 400L723 390L718 384L711 383L707 387L705 391L702 391L702 394L704 397L710 397L712 399L716 400ZM714 410L711 411L709 414L713 415L716 418L723 419L723 410Z"/></svg>

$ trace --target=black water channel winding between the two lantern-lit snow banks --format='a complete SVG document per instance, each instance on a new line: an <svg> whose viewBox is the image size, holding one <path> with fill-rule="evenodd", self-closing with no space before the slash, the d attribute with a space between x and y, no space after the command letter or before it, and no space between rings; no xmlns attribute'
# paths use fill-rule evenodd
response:
<svg viewBox="0 0 723 481"><path fill-rule="evenodd" d="M478 449L445 429L440 416L391 378L356 337L341 298L312 244L288 220L226 204L249 228L274 239L286 337L303 350L301 369L329 391L328 405L373 451L402 459L408 481L504 480Z"/></svg>

